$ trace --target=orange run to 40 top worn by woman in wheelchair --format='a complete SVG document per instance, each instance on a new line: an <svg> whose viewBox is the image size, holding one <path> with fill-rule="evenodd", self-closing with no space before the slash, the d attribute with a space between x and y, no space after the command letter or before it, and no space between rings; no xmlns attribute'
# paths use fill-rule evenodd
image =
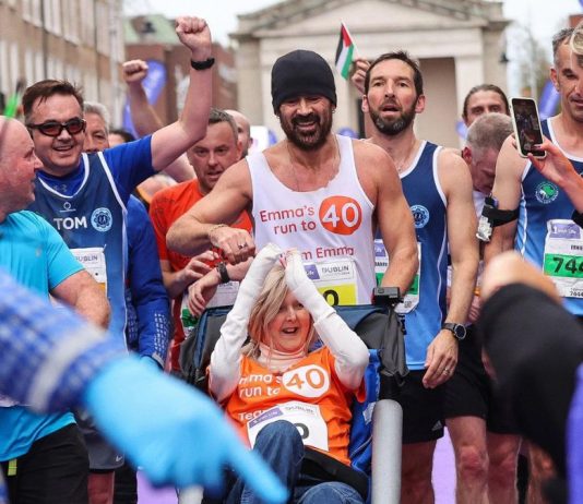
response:
<svg viewBox="0 0 583 504"><path fill-rule="evenodd" d="M355 396L365 400L365 384L348 391L336 375L334 361L323 347L284 373L273 373L243 356L237 388L224 401L242 439L252 446L267 423L288 420L304 444L349 466L350 404Z"/></svg>

